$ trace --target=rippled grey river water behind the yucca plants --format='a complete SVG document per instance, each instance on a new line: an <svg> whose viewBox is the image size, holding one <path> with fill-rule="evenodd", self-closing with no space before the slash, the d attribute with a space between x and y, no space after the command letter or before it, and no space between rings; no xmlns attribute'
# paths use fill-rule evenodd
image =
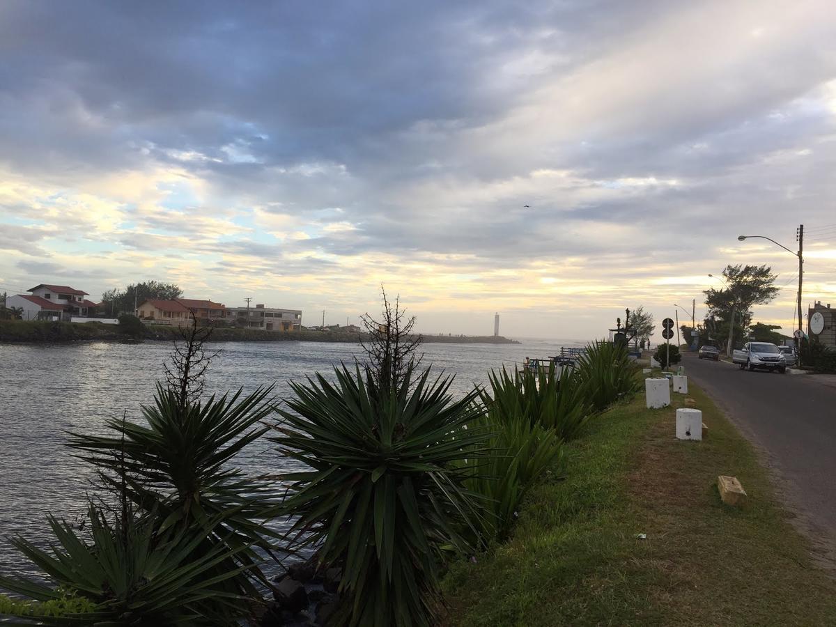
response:
<svg viewBox="0 0 836 627"><path fill-rule="evenodd" d="M563 342L564 345L573 345ZM501 364L526 356L554 354L558 342L526 344L425 344L424 364L455 374L454 395L486 380ZM353 363L357 344L314 342L224 343L206 378L209 392L225 392L275 382L279 396L288 380L329 372L341 360ZM150 403L167 342L16 346L0 344L0 573L21 573L28 565L8 544L23 533L46 538L46 514L73 520L83 513L92 472L64 446L64 431L102 432L107 418L127 411L140 415ZM256 443L239 463L254 473L288 470L288 460Z"/></svg>

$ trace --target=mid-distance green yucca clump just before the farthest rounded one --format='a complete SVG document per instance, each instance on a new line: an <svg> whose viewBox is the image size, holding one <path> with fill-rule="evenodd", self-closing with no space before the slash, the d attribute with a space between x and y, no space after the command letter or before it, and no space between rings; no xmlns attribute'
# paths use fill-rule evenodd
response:
<svg viewBox="0 0 836 627"><path fill-rule="evenodd" d="M583 390L572 370L547 368L514 370L509 374L492 370L490 390L482 390L482 403L504 421L528 420L532 425L553 429L562 440L579 434L589 417Z"/></svg>

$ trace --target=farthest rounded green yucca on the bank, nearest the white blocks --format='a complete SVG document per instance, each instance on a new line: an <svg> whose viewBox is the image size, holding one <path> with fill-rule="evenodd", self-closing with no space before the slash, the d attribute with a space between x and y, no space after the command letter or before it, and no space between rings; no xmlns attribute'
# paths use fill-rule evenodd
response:
<svg viewBox="0 0 836 627"><path fill-rule="evenodd" d="M584 399L600 411L616 400L635 395L640 388L638 370L624 345L597 341L587 344L574 375Z"/></svg>

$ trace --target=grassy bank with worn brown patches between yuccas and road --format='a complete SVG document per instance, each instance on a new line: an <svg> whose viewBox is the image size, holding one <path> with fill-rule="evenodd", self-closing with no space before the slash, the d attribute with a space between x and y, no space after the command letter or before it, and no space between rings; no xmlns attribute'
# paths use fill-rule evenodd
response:
<svg viewBox="0 0 836 627"><path fill-rule="evenodd" d="M752 446L691 397L701 443L675 441L675 406L645 410L643 395L594 421L569 447L568 479L529 493L512 540L448 574L444 624L836 624L836 583ZM741 480L747 507L722 504L718 474Z"/></svg>

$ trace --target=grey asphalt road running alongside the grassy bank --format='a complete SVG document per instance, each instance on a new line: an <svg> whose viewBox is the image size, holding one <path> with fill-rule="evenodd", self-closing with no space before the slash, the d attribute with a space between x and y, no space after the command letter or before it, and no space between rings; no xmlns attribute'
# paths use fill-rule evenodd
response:
<svg viewBox="0 0 836 627"><path fill-rule="evenodd" d="M751 372L692 353L682 365L762 451L794 522L836 569L836 377Z"/></svg>

